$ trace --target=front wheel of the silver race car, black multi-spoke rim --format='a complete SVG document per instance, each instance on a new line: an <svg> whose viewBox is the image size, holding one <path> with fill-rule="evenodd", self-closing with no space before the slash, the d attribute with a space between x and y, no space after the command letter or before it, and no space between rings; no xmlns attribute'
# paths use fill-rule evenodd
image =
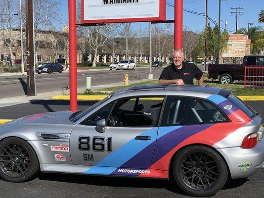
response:
<svg viewBox="0 0 264 198"><path fill-rule="evenodd" d="M38 157L33 148L20 138L0 142L0 177L8 182L24 182L39 172Z"/></svg>

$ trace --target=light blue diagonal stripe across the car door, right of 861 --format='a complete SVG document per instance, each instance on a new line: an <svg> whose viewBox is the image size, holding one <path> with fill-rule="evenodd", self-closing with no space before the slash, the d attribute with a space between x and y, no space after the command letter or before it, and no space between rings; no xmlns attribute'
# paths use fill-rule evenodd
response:
<svg viewBox="0 0 264 198"><path fill-rule="evenodd" d="M136 155L138 152L143 150L144 148L148 147L151 143L156 141L157 137L157 130L158 127L152 128L150 130L147 130L140 134L139 136L150 136L151 140L148 141L140 141L140 140L135 140L134 138L123 145L122 147L118 148L105 158L103 158L101 161L99 161L95 166L92 168L88 169L86 173L94 173L98 171L99 167L96 166L105 166L107 164L108 166L111 167L120 167L122 164L127 162L129 159L131 159L134 155ZM116 169L114 168L114 170ZM112 170L112 172L114 171ZM111 172L110 172L111 173ZM109 174L110 174L109 173Z"/></svg>

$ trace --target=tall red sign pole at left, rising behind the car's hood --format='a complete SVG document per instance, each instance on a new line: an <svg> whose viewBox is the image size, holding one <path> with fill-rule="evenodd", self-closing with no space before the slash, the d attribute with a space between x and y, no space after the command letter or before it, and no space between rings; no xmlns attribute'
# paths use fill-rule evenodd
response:
<svg viewBox="0 0 264 198"><path fill-rule="evenodd" d="M69 0L70 111L77 111L76 0Z"/></svg>

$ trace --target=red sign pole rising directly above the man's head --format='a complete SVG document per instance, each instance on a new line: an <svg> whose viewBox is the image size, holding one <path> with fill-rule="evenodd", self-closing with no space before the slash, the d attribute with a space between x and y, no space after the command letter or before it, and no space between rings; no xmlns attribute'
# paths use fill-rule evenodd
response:
<svg viewBox="0 0 264 198"><path fill-rule="evenodd" d="M182 49L182 12L183 0L175 0L174 3L174 49Z"/></svg>

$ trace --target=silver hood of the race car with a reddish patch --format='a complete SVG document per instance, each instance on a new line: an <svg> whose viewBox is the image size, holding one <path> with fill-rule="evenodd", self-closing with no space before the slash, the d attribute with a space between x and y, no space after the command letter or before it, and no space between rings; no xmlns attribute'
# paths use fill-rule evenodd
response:
<svg viewBox="0 0 264 198"><path fill-rule="evenodd" d="M69 117L74 112L58 111L48 113L38 113L18 118L7 124L22 124L22 123L39 123L39 124L73 124Z"/></svg>

